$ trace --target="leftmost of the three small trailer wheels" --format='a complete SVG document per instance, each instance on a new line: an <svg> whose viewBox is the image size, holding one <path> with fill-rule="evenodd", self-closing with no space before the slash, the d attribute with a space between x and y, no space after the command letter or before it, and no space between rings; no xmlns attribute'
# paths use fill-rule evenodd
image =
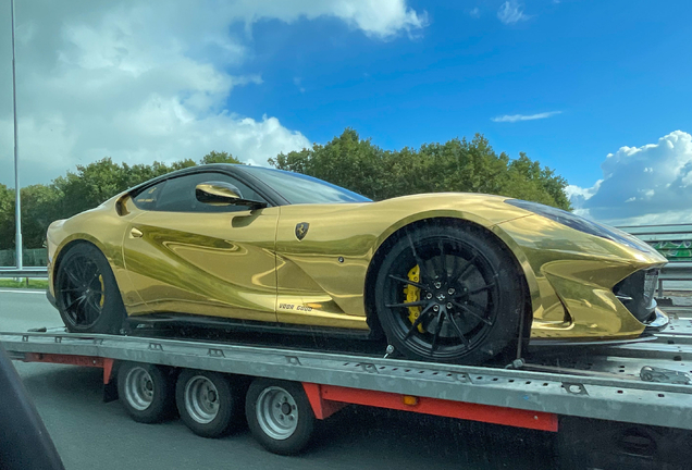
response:
<svg viewBox="0 0 692 470"><path fill-rule="evenodd" d="M161 422L175 409L172 378L152 364L123 363L118 371L118 396L137 422Z"/></svg>

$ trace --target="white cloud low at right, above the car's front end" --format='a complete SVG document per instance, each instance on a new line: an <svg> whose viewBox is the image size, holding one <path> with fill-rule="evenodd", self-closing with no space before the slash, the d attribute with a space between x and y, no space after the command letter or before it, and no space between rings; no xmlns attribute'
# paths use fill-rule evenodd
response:
<svg viewBox="0 0 692 470"><path fill-rule="evenodd" d="M622 147L601 164L591 188L568 186L580 214L614 225L682 223L692 219L692 136L676 131L642 147Z"/></svg>

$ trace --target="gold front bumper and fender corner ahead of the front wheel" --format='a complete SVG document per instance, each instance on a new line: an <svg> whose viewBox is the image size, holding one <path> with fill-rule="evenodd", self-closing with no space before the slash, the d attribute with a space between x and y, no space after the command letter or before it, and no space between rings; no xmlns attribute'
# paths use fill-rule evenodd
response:
<svg viewBox="0 0 692 470"><path fill-rule="evenodd" d="M630 274L662 267L666 259L566 227L540 215L498 225L532 284L532 337L637 337L644 325L615 297Z"/></svg>

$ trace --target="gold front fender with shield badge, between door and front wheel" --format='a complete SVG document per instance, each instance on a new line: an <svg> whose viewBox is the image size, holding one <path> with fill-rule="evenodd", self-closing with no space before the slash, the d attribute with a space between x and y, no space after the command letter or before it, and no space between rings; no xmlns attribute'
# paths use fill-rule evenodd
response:
<svg viewBox="0 0 692 470"><path fill-rule="evenodd" d="M431 218L465 218L491 226L517 217L516 208L503 200L492 196L438 194L375 203L281 207L276 231L279 321L319 326L350 324L349 327L367 330L366 275L374 252L387 236L411 222ZM473 208L483 208L483 217L471 212ZM307 236L299 240L295 228L304 222L310 225ZM332 302L322 302L325 294ZM320 311L309 312L296 307L281 308L282 304L296 302L323 306Z"/></svg>

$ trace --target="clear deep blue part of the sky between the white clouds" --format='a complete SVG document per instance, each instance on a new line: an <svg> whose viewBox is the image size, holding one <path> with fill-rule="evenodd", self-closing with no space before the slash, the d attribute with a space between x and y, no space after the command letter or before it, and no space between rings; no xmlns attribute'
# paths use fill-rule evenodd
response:
<svg viewBox="0 0 692 470"><path fill-rule="evenodd" d="M533 1L515 24L498 20L502 3L410 1L429 21L413 39L372 40L337 20L258 23L257 57L244 67L264 84L228 107L276 115L318 143L346 126L385 148L478 132L580 186L621 146L692 128L692 54L682 47L692 45L692 3ZM551 111L560 114L491 121Z"/></svg>

